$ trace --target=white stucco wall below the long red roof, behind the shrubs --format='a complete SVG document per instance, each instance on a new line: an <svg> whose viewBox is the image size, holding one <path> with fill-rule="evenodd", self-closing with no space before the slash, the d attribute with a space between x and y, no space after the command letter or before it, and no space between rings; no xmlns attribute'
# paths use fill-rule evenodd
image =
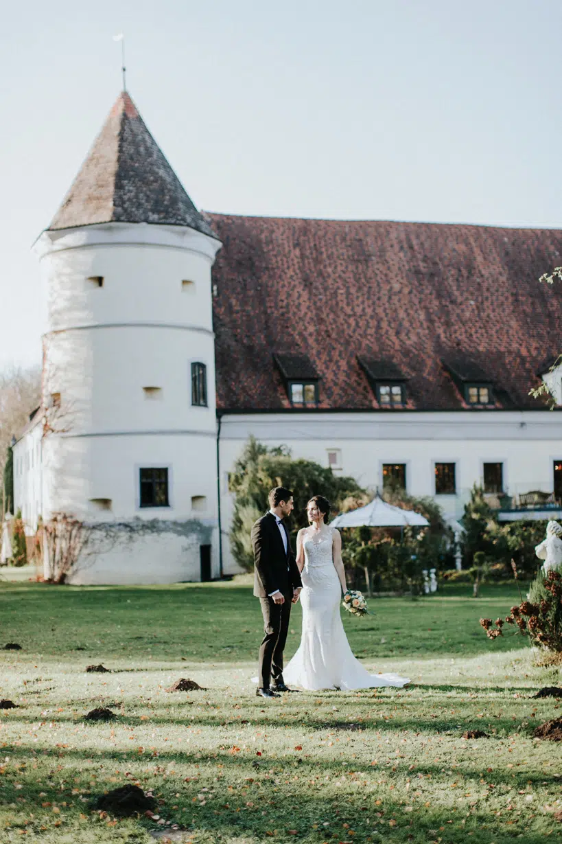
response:
<svg viewBox="0 0 562 844"><path fill-rule="evenodd" d="M383 463L405 463L412 495L435 495L435 463L455 463L457 495L437 495L451 516L461 516L473 484L483 481L484 463L503 463L504 489L511 495L552 491L554 461L562 460L562 415L550 411L460 411L451 413L251 414L221 420L220 473L224 571L235 571L228 533L234 496L227 476L249 436L267 446L289 446L294 457L328 466L339 449L339 474L382 489ZM322 493L322 490L318 490ZM295 490L296 506L305 506Z"/></svg>

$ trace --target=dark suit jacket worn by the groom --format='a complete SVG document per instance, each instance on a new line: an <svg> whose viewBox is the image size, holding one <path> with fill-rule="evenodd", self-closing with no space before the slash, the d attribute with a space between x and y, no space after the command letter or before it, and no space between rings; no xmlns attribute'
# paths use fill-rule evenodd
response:
<svg viewBox="0 0 562 844"><path fill-rule="evenodd" d="M284 527L284 526L283 526ZM254 595L267 598L272 592L292 594L293 589L302 587L299 567L289 542L287 552L277 521L272 513L266 513L251 528L251 547L254 549Z"/></svg>

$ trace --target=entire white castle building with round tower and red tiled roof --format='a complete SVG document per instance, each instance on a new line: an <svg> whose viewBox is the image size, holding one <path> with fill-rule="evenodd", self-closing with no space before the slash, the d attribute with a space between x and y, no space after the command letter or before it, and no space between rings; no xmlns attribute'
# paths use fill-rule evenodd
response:
<svg viewBox="0 0 562 844"><path fill-rule="evenodd" d="M543 378L562 405L562 300L538 284L562 231L203 214L122 92L35 250L48 331L14 505L29 533L100 528L73 582L235 572L250 435L451 520L475 483L500 520L562 513L562 417L529 396Z"/></svg>

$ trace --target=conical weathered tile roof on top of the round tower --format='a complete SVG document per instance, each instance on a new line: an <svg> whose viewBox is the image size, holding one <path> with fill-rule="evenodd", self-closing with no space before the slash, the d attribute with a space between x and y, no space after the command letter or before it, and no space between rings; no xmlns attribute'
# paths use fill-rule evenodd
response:
<svg viewBox="0 0 562 844"><path fill-rule="evenodd" d="M185 225L216 237L123 91L49 230L95 223Z"/></svg>

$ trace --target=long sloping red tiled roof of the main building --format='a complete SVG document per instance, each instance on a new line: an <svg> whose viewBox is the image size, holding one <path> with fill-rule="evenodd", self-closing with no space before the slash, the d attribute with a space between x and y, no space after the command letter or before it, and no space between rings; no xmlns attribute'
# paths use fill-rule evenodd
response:
<svg viewBox="0 0 562 844"><path fill-rule="evenodd" d="M321 377L322 409L378 408L358 355L403 372L408 408L467 407L459 367L489 376L498 408L541 407L528 392L562 348L562 296L538 279L562 230L208 219L219 409L289 408L273 360L289 352Z"/></svg>

